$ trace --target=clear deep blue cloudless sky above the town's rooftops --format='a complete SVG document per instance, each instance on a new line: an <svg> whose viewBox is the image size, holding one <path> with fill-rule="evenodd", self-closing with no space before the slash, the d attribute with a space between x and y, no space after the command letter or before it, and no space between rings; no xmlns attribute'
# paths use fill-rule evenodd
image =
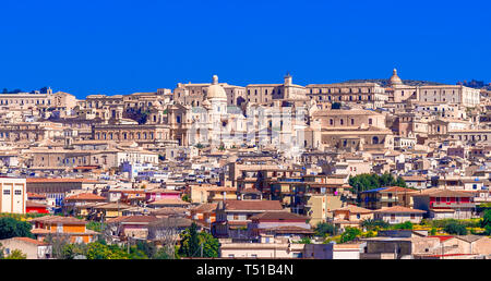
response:
<svg viewBox="0 0 491 281"><path fill-rule="evenodd" d="M178 82L491 82L488 1L0 2L0 89L131 94Z"/></svg>

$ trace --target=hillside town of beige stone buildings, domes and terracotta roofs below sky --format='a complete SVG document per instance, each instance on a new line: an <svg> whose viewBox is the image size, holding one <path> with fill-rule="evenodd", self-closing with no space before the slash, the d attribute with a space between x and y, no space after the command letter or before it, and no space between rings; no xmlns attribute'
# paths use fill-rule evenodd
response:
<svg viewBox="0 0 491 281"><path fill-rule="evenodd" d="M396 70L4 90L0 257L489 259L489 94Z"/></svg>

